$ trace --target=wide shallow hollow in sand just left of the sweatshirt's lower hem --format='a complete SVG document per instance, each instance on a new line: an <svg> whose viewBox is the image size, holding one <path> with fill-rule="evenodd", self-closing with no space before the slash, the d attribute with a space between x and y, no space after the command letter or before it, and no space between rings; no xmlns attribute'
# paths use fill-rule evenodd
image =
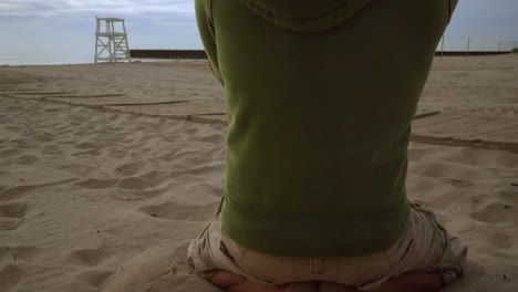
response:
<svg viewBox="0 0 518 292"><path fill-rule="evenodd" d="M160 205L142 207L139 210L157 218L169 220L207 221L214 218L219 202L206 205L189 205L177 201L166 201Z"/></svg>

